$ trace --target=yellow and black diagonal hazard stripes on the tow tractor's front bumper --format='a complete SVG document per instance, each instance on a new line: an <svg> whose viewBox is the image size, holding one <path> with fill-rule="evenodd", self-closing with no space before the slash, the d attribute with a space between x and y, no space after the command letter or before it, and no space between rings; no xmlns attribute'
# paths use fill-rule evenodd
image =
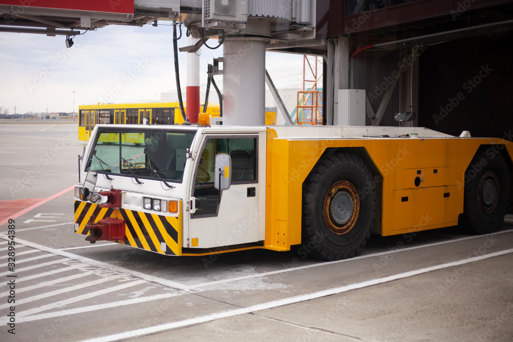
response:
<svg viewBox="0 0 513 342"><path fill-rule="evenodd" d="M182 255L182 217L149 214L128 209L100 208L94 203L75 200L75 223L78 224L78 234L89 235L85 228L91 215L94 222L105 217L122 219L126 226L126 240L116 240L119 244L129 245L148 251ZM162 243L166 245L162 250Z"/></svg>

